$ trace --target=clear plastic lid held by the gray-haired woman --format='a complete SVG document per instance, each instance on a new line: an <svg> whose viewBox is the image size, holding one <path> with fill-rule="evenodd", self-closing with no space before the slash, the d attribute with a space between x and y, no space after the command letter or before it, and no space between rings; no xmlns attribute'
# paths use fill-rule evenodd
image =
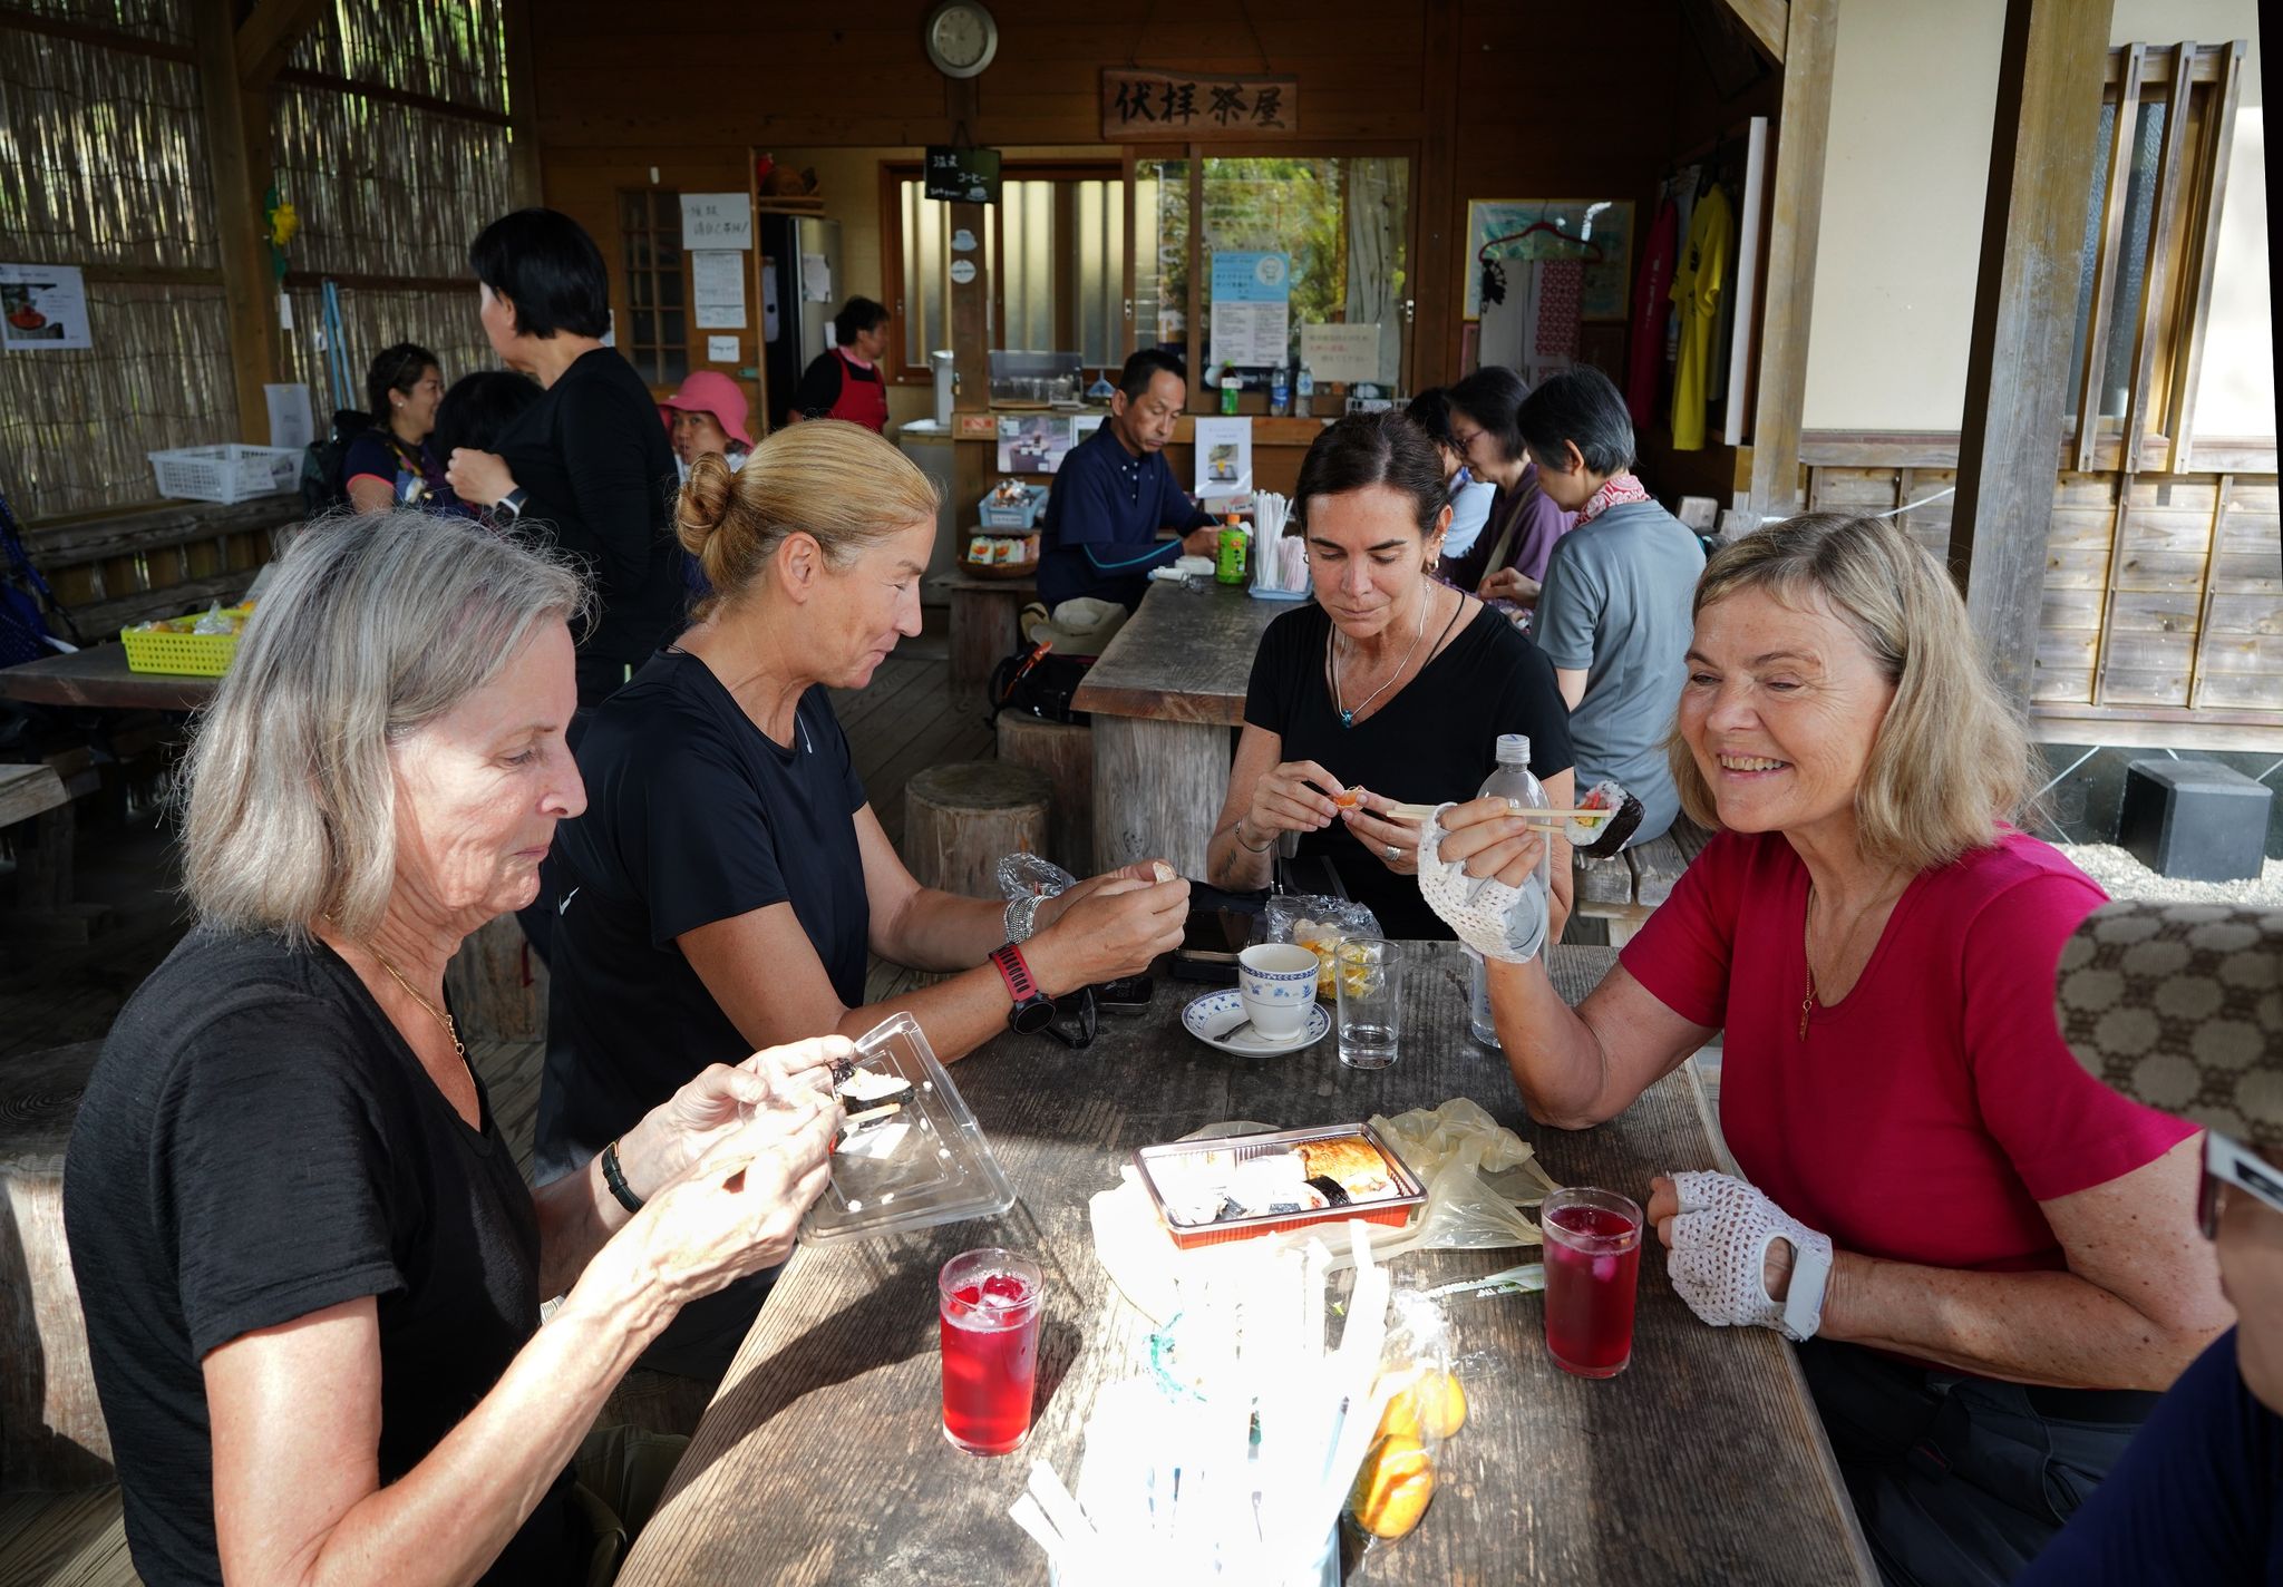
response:
<svg viewBox="0 0 2283 1587"><path fill-rule="evenodd" d="M801 1244L998 1217L1014 1206L991 1142L911 1014L865 1032L838 1089L849 1121L833 1146L833 1178L801 1217Z"/></svg>

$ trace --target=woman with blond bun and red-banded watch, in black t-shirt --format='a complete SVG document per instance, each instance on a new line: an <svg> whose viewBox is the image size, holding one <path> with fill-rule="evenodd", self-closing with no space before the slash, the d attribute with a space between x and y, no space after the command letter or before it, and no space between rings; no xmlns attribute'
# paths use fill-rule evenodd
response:
<svg viewBox="0 0 2283 1587"><path fill-rule="evenodd" d="M1009 1025L1084 1037L1052 1000L1144 970L1187 918L1189 884L1151 861L1007 904L922 888L881 831L826 690L920 633L936 491L909 457L810 420L737 473L701 454L678 514L715 596L594 712L587 813L555 840L539 1181L753 1053L749 1032L861 1037L909 1009L943 1060ZM870 1002L870 954L943 980ZM699 1302L648 1363L719 1377L758 1304Z"/></svg>

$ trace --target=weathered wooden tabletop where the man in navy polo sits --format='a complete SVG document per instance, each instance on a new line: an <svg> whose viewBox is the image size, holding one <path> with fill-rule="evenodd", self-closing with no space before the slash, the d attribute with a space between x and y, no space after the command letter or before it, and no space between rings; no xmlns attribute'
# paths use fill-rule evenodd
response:
<svg viewBox="0 0 2283 1587"><path fill-rule="evenodd" d="M1260 635L1290 610L1290 601L1253 601L1237 585L1201 591L1151 585L1071 703L1114 717L1233 728L1244 722Z"/></svg>

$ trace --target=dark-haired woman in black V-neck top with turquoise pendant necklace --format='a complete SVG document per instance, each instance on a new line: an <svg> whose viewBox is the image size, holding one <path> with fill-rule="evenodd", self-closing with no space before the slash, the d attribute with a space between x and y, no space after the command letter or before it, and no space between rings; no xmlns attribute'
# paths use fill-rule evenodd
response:
<svg viewBox="0 0 2283 1587"><path fill-rule="evenodd" d="M1470 799L1498 735L1530 735L1530 770L1571 801L1568 712L1552 667L1482 601L1429 578L1450 527L1443 466L1399 413L1356 413L1308 448L1285 534L1308 541L1315 605L1260 637L1228 801L1205 849L1217 886L1267 886L1272 849L1301 833L1388 936L1447 938L1418 891L1420 829L1390 804ZM1352 806L1336 804L1361 788ZM1568 918L1557 843L1548 941Z"/></svg>

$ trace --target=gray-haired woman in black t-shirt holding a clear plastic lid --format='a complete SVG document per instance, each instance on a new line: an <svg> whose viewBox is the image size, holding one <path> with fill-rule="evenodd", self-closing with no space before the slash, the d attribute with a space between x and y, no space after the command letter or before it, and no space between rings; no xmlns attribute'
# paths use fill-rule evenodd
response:
<svg viewBox="0 0 2283 1587"><path fill-rule="evenodd" d="M705 1069L537 1194L468 1064L445 961L587 801L582 607L475 525L322 523L199 724L199 925L112 1028L64 1169L146 1580L589 1580L673 1455L589 1439L603 1400L824 1185L845 1039Z"/></svg>

